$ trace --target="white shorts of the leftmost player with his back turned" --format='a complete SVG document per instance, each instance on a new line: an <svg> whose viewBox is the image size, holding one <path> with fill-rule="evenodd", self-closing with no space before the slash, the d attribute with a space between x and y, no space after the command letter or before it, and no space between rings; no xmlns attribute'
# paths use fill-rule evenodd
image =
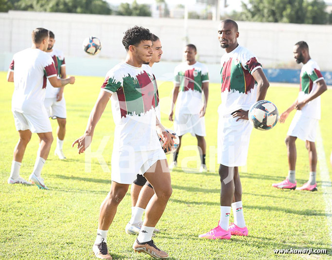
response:
<svg viewBox="0 0 332 260"><path fill-rule="evenodd" d="M30 130L32 133L52 132L51 122L45 109L38 114L24 114L13 111L17 131Z"/></svg>

